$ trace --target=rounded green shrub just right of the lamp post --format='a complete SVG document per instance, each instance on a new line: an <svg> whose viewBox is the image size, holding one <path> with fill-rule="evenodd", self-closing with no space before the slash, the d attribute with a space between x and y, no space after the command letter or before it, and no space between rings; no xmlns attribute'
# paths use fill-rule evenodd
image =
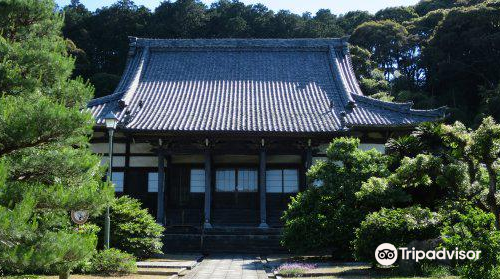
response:
<svg viewBox="0 0 500 279"><path fill-rule="evenodd" d="M147 258L161 253L164 228L156 223L141 202L122 196L115 200L110 210L111 247L133 254L137 258ZM99 217L101 226L104 217ZM101 243L104 229L101 230ZM101 246L102 247L102 246Z"/></svg>

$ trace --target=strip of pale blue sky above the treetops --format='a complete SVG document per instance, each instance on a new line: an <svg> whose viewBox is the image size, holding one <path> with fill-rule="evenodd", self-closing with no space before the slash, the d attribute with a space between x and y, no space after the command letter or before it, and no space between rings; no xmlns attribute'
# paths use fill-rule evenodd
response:
<svg viewBox="0 0 500 279"><path fill-rule="evenodd" d="M95 10L103 6L109 6L115 0L80 0L90 10ZM56 0L59 6L65 6L70 0ZM135 0L138 5L144 5L154 10L160 4L160 0ZM214 1L203 0L206 4ZM335 14L342 14L348 11L364 10L372 13L394 6L409 6L416 4L418 0L241 0L246 4L262 3L271 10L290 10L294 13L303 12L315 13L319 9L330 9Z"/></svg>

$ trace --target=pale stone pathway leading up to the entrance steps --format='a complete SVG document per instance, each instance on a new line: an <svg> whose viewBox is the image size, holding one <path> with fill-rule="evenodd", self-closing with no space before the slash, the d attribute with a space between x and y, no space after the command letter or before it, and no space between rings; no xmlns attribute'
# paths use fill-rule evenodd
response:
<svg viewBox="0 0 500 279"><path fill-rule="evenodd" d="M214 255L205 258L185 279L267 279L260 259L250 255Z"/></svg>

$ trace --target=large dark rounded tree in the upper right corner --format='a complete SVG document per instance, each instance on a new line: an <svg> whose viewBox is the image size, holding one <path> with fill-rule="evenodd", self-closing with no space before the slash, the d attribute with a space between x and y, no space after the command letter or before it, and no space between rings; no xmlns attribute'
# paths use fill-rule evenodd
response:
<svg viewBox="0 0 500 279"><path fill-rule="evenodd" d="M480 86L494 89L500 67L500 10L478 5L447 12L422 52L428 86L440 103L450 104L455 119L479 122ZM459 43L457 43L459 42Z"/></svg>

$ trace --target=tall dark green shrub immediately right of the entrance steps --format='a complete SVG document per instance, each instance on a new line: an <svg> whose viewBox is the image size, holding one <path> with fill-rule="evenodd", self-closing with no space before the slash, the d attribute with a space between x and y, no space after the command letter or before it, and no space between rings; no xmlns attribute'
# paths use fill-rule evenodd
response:
<svg viewBox="0 0 500 279"><path fill-rule="evenodd" d="M307 173L309 181L322 181L298 194L283 215L282 244L297 253L328 252L335 258L351 258L350 243L366 212L355 193L372 176L385 177L387 158L372 149L358 148L359 139L335 139L327 160Z"/></svg>

